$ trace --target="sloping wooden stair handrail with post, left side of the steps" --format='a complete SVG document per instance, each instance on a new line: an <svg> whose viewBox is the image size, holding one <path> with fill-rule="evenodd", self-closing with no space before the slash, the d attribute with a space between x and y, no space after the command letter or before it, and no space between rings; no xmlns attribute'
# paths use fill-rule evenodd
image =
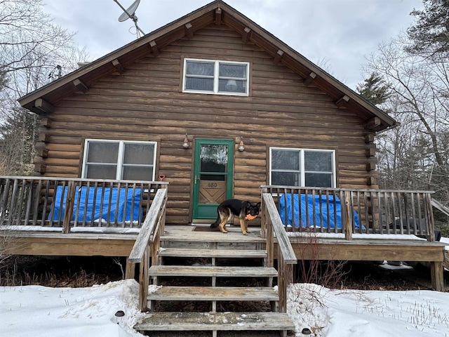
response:
<svg viewBox="0 0 449 337"><path fill-rule="evenodd" d="M149 286L150 256L156 258L159 249L159 238L163 234L166 218L167 188L157 190L152 205L145 216L142 228L135 240L133 249L128 257L128 263L140 263L139 272L139 309L147 311L147 296ZM152 251L150 252L150 246Z"/></svg>

